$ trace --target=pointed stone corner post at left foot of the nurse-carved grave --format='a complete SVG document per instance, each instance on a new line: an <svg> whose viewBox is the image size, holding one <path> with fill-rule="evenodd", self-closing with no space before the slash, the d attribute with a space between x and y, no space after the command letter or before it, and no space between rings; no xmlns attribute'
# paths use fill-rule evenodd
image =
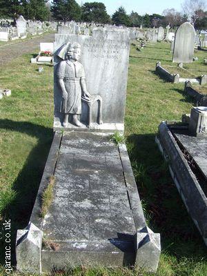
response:
<svg viewBox="0 0 207 276"><path fill-rule="evenodd" d="M17 231L17 269L25 273L41 272L43 232L30 222L25 230Z"/></svg>

